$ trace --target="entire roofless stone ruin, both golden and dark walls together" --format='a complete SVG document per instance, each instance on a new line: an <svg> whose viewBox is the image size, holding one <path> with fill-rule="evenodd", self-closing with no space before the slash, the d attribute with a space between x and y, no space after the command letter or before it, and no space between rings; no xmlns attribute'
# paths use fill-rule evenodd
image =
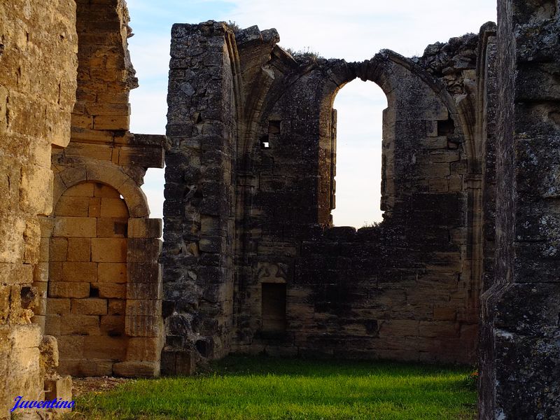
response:
<svg viewBox="0 0 560 420"><path fill-rule="evenodd" d="M123 0L15 3L0 418L17 395L71 398L67 375L189 374L236 352L478 363L480 419L560 419L558 1L499 0L479 34L364 62L174 25L167 137L129 130ZM384 221L358 230L331 217L332 104L355 78L388 102ZM141 185L164 156L162 247Z"/></svg>

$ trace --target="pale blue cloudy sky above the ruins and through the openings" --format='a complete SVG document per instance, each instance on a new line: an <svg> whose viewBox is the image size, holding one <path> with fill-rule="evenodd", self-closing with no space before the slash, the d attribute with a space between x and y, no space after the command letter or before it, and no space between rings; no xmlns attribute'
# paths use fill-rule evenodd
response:
<svg viewBox="0 0 560 420"><path fill-rule="evenodd" d="M496 21L495 0L128 0L132 63L140 87L130 95L131 131L164 134L167 113L169 41L173 23L206 20L237 22L240 27L276 28L280 45L310 48L323 57L361 61L382 48L410 57L452 36L478 32ZM342 7L344 6L344 7ZM337 209L335 225L360 228L381 220L381 112L383 92L360 80L335 99L338 110ZM150 169L144 190L152 217L162 217L163 170Z"/></svg>

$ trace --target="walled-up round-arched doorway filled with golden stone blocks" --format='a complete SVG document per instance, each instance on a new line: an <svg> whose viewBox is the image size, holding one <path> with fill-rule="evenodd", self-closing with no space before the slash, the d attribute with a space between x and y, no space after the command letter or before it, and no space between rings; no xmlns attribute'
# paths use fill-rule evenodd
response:
<svg viewBox="0 0 560 420"><path fill-rule="evenodd" d="M61 372L113 374L127 351L127 205L115 188L84 182L54 216L45 332L57 337Z"/></svg>

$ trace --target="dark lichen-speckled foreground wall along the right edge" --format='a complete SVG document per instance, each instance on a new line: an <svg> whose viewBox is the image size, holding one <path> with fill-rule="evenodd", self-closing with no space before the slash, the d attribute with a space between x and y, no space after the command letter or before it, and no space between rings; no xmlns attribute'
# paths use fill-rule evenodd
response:
<svg viewBox="0 0 560 420"><path fill-rule="evenodd" d="M560 6L498 1L496 267L481 419L560 419Z"/></svg>

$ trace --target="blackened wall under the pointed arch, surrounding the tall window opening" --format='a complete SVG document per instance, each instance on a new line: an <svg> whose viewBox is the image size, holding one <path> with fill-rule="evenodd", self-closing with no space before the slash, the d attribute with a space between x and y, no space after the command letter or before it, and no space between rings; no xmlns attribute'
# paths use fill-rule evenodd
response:
<svg viewBox="0 0 560 420"><path fill-rule="evenodd" d="M255 217L246 231L246 267L237 276L233 349L472 360L477 312L467 302L476 294L463 275L461 248L467 158L456 110L448 109L447 94L437 94L442 84L389 51L364 63L303 65L277 101L277 90L267 92L262 132L248 155L258 182L244 209ZM385 221L358 232L330 228L332 99L356 77L388 92ZM272 136L267 130L274 120L281 130ZM260 146L262 137L269 148ZM261 334L259 296L269 267L288 293L288 328L274 337Z"/></svg>

